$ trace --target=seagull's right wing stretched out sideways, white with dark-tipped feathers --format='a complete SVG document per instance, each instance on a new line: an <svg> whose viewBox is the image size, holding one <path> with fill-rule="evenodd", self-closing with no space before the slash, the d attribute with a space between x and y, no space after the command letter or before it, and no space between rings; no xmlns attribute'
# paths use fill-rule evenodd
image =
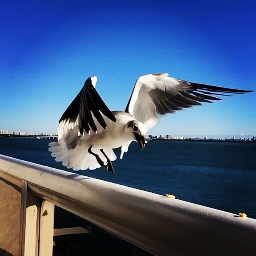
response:
<svg viewBox="0 0 256 256"><path fill-rule="evenodd" d="M187 82L169 77L167 73L148 74L136 81L125 112L150 129L167 113L201 105L202 102L222 100L219 96L245 92L252 91Z"/></svg>

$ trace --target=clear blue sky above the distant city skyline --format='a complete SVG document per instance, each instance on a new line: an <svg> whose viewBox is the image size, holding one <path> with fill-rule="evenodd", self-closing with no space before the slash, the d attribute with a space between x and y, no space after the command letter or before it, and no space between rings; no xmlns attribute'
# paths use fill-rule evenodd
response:
<svg viewBox="0 0 256 256"><path fill-rule="evenodd" d="M143 74L256 90L256 1L1 1L0 129L56 132L88 76L124 110ZM256 93L178 111L149 132L256 134Z"/></svg>

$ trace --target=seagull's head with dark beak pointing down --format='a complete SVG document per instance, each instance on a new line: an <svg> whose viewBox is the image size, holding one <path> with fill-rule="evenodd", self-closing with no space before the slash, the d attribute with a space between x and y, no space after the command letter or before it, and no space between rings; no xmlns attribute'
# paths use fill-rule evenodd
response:
<svg viewBox="0 0 256 256"><path fill-rule="evenodd" d="M140 121L132 120L127 123L127 129L132 134L133 140L138 141L140 147L144 148L146 143L144 138L147 131L146 126Z"/></svg>

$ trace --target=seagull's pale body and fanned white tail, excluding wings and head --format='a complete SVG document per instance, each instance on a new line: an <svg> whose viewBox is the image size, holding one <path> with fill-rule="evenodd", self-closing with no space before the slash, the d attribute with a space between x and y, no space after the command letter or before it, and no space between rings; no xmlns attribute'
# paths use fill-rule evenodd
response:
<svg viewBox="0 0 256 256"><path fill-rule="evenodd" d="M96 126L100 127L97 133L91 133L90 135L85 133L84 136L78 136L78 126L74 126L68 130L68 136L62 135L58 138L58 142L50 143L49 151L52 152L55 160L62 162L67 168L73 168L73 170L94 170L99 168L101 166L96 161L96 158L88 153L90 146L93 146L94 153L100 155L104 165L107 164L107 159L100 152L100 149L103 149L108 158L114 161L116 160L116 155L112 149L122 147L120 155L122 159L124 152L128 151L130 142L134 140L133 134L126 129L126 124L136 119L131 114L123 111L112 111L112 114L115 116L116 122L112 122L106 116L103 117L108 127L107 129L103 129L94 118ZM143 124L141 125L143 126ZM146 128L144 128L144 131L146 132ZM128 146L126 146L127 143ZM73 144L76 145L75 148L72 148Z"/></svg>

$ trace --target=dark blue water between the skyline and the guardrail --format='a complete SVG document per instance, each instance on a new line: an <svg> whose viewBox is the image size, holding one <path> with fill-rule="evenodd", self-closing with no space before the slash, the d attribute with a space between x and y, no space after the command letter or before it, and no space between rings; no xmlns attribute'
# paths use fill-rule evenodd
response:
<svg viewBox="0 0 256 256"><path fill-rule="evenodd" d="M51 141L0 138L0 154L74 172L50 156ZM256 144L149 141L140 150L133 142L113 166L115 174L76 173L256 218Z"/></svg>

